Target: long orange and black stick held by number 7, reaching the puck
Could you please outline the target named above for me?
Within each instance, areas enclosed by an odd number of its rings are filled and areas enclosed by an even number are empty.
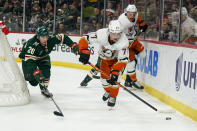
[[[99,71],[100,73],[102,73],[104,76],[106,76],[108,79],[110,79],[110,76],[107,75],[105,72],[103,72],[101,69],[97,68],[95,65],[93,65],[92,63],[88,62],[88,64],[90,66],[92,66],[94,69],[96,69],[97,71]],[[158,110],[156,107],[152,106],[151,104],[149,104],[148,102],[146,102],[145,100],[143,100],[142,98],[140,98],[138,95],[136,95],[135,93],[133,93],[132,91],[128,90],[126,87],[124,87],[122,84],[120,84],[119,82],[115,82],[118,86],[120,86],[121,88],[123,88],[124,90],[126,90],[128,93],[130,93],[131,95],[133,95],[135,98],[137,98],[138,100],[140,100],[141,102],[143,102],[144,104],[146,104],[147,106],[149,106],[151,109],[153,109],[156,112],[159,113],[174,113],[174,110]]]

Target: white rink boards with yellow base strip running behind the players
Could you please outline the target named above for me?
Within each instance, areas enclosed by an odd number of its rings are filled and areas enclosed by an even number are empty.
[[[18,57],[22,45],[34,34],[10,33],[8,41],[11,50]],[[81,36],[70,36],[78,42]],[[167,42],[143,41],[146,49],[144,58],[137,58],[137,77],[145,86],[145,91],[172,106],[186,116],[197,121],[197,48]],[[91,45],[90,62],[97,61],[97,45]],[[70,53],[65,45],[54,47],[50,54],[52,64],[89,70],[89,66],[81,65],[78,56]],[[19,59],[17,58],[17,61]]]

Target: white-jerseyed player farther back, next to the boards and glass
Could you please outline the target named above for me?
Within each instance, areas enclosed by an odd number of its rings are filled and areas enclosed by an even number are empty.
[[[138,57],[144,57],[145,51],[144,46],[137,39],[134,40],[136,31],[135,25],[139,24],[139,28],[142,32],[145,32],[147,29],[147,24],[138,16],[137,8],[135,5],[128,5],[126,12],[121,14],[118,18],[121,23],[121,29],[126,34],[129,40],[129,63],[127,64],[126,80],[125,86],[127,87],[136,87],[138,89],[143,89],[144,87],[137,82],[135,66],[136,60],[135,55]]]

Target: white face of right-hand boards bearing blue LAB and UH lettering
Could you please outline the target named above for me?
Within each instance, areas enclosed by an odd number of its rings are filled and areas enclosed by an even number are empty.
[[[143,42],[137,77],[167,96],[197,109],[197,49]]]

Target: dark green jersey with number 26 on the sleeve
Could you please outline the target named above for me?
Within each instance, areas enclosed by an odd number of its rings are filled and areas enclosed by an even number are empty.
[[[33,38],[24,43],[22,51],[19,54],[19,58],[24,61],[40,60],[48,56],[56,44],[66,44],[67,46],[72,47],[74,42],[67,35],[53,34],[49,35],[47,44],[43,46],[37,39],[37,35],[35,35]],[[74,48],[72,51],[75,53],[77,50],[78,48]]]

